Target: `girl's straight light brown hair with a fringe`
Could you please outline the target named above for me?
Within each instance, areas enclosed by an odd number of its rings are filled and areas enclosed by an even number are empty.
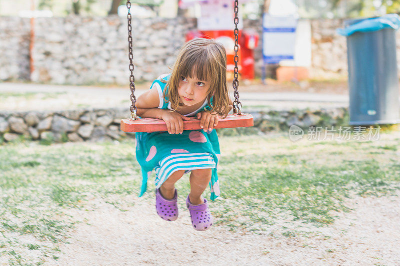
[[[229,92],[226,85],[226,52],[222,44],[212,39],[194,38],[179,50],[171,76],[166,82],[164,100],[170,101],[176,110],[179,104],[180,77],[196,77],[209,82],[207,112],[226,117],[229,112]]]

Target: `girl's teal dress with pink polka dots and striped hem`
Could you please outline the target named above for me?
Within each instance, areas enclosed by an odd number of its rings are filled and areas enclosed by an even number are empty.
[[[151,89],[156,89],[159,95],[161,109],[171,109],[170,102],[164,102],[162,97],[166,81],[170,75],[161,75],[153,81]],[[185,116],[195,116],[208,106],[205,101],[196,111]],[[172,110],[172,109],[171,109]],[[219,194],[219,182],[216,167],[220,156],[218,136],[215,129],[184,130],[182,134],[168,132],[136,132],[136,160],[141,167],[142,181],[139,197],[147,189],[147,180],[152,171],[155,171],[154,184],[159,188],[161,184],[175,171],[185,170],[185,173],[194,169],[210,168],[211,190],[210,200],[215,200]]]

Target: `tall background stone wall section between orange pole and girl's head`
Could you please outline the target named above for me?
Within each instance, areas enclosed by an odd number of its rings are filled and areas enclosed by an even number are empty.
[[[153,80],[168,72],[195,20],[132,19],[134,75]],[[127,22],[118,16],[68,16],[36,20],[33,81],[57,84],[126,84]]]

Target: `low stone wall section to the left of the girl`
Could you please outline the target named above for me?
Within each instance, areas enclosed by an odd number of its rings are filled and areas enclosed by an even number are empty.
[[[5,141],[19,136],[54,142],[118,139],[126,108],[78,109],[59,112],[0,112],[0,136]]]

